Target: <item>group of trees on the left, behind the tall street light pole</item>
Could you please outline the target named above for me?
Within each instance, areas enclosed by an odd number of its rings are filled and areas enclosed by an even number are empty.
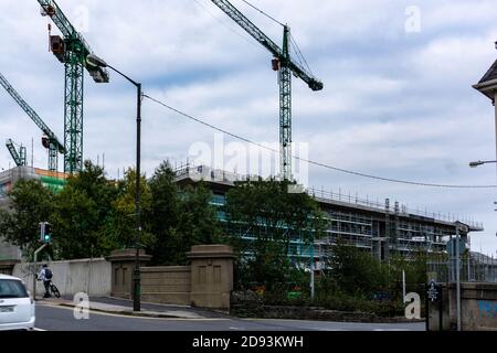
[[[84,167],[57,194],[39,181],[19,181],[9,192],[11,210],[0,210],[0,234],[20,246],[27,259],[40,247],[42,221],[52,224],[52,246],[44,255],[53,259],[106,256],[136,246],[135,171],[116,182],[91,161]],[[210,199],[203,185],[180,190],[168,162],[150,181],[141,176],[139,245],[154,255],[155,265],[183,265],[192,245],[218,239]]]

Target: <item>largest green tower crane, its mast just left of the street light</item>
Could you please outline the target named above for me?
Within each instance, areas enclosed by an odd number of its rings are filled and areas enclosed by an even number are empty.
[[[64,36],[50,35],[50,47],[65,67],[64,147],[67,152],[64,172],[72,174],[83,169],[83,68],[86,67],[96,83],[108,83],[108,72],[86,66],[86,56],[93,51],[55,1],[38,2],[42,7],[42,15],[50,17]]]

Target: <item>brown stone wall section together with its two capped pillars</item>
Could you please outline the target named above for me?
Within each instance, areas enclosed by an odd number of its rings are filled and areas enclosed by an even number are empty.
[[[131,253],[119,250],[109,257],[114,297],[131,298]],[[226,245],[199,245],[188,257],[191,266],[141,267],[141,300],[228,312],[233,290],[233,249]],[[141,258],[147,259],[144,254]]]

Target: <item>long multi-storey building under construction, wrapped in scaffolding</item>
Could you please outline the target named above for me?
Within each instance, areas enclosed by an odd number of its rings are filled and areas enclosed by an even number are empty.
[[[224,213],[225,193],[235,182],[258,180],[258,176],[239,175],[208,167],[181,167],[177,170],[177,182],[180,185],[203,181],[213,192],[212,204],[219,207],[218,218],[228,225]],[[467,220],[457,220],[443,214],[409,210],[398,202],[385,200],[362,200],[350,194],[345,195],[324,190],[308,189],[327,216],[326,236],[316,239],[313,245],[295,238],[290,253],[297,254],[302,264],[310,264],[320,269],[328,256],[330,247],[340,238],[346,244],[370,252],[379,259],[388,259],[392,254],[409,255],[411,252],[442,254],[447,250],[448,242],[456,235],[456,221],[467,225],[467,231],[459,231],[461,239],[466,248],[470,246],[469,233],[482,232],[483,225]],[[230,232],[250,238],[251,229],[239,226]],[[308,260],[306,260],[308,259]]]

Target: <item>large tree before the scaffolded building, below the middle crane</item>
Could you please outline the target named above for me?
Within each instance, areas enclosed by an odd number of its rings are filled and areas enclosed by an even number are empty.
[[[289,255],[299,256],[290,242],[310,244],[321,235],[324,217],[317,202],[306,193],[289,193],[289,185],[287,181],[248,181],[226,193],[233,245],[243,254],[237,263],[240,285],[257,282],[268,289],[286,285]]]

